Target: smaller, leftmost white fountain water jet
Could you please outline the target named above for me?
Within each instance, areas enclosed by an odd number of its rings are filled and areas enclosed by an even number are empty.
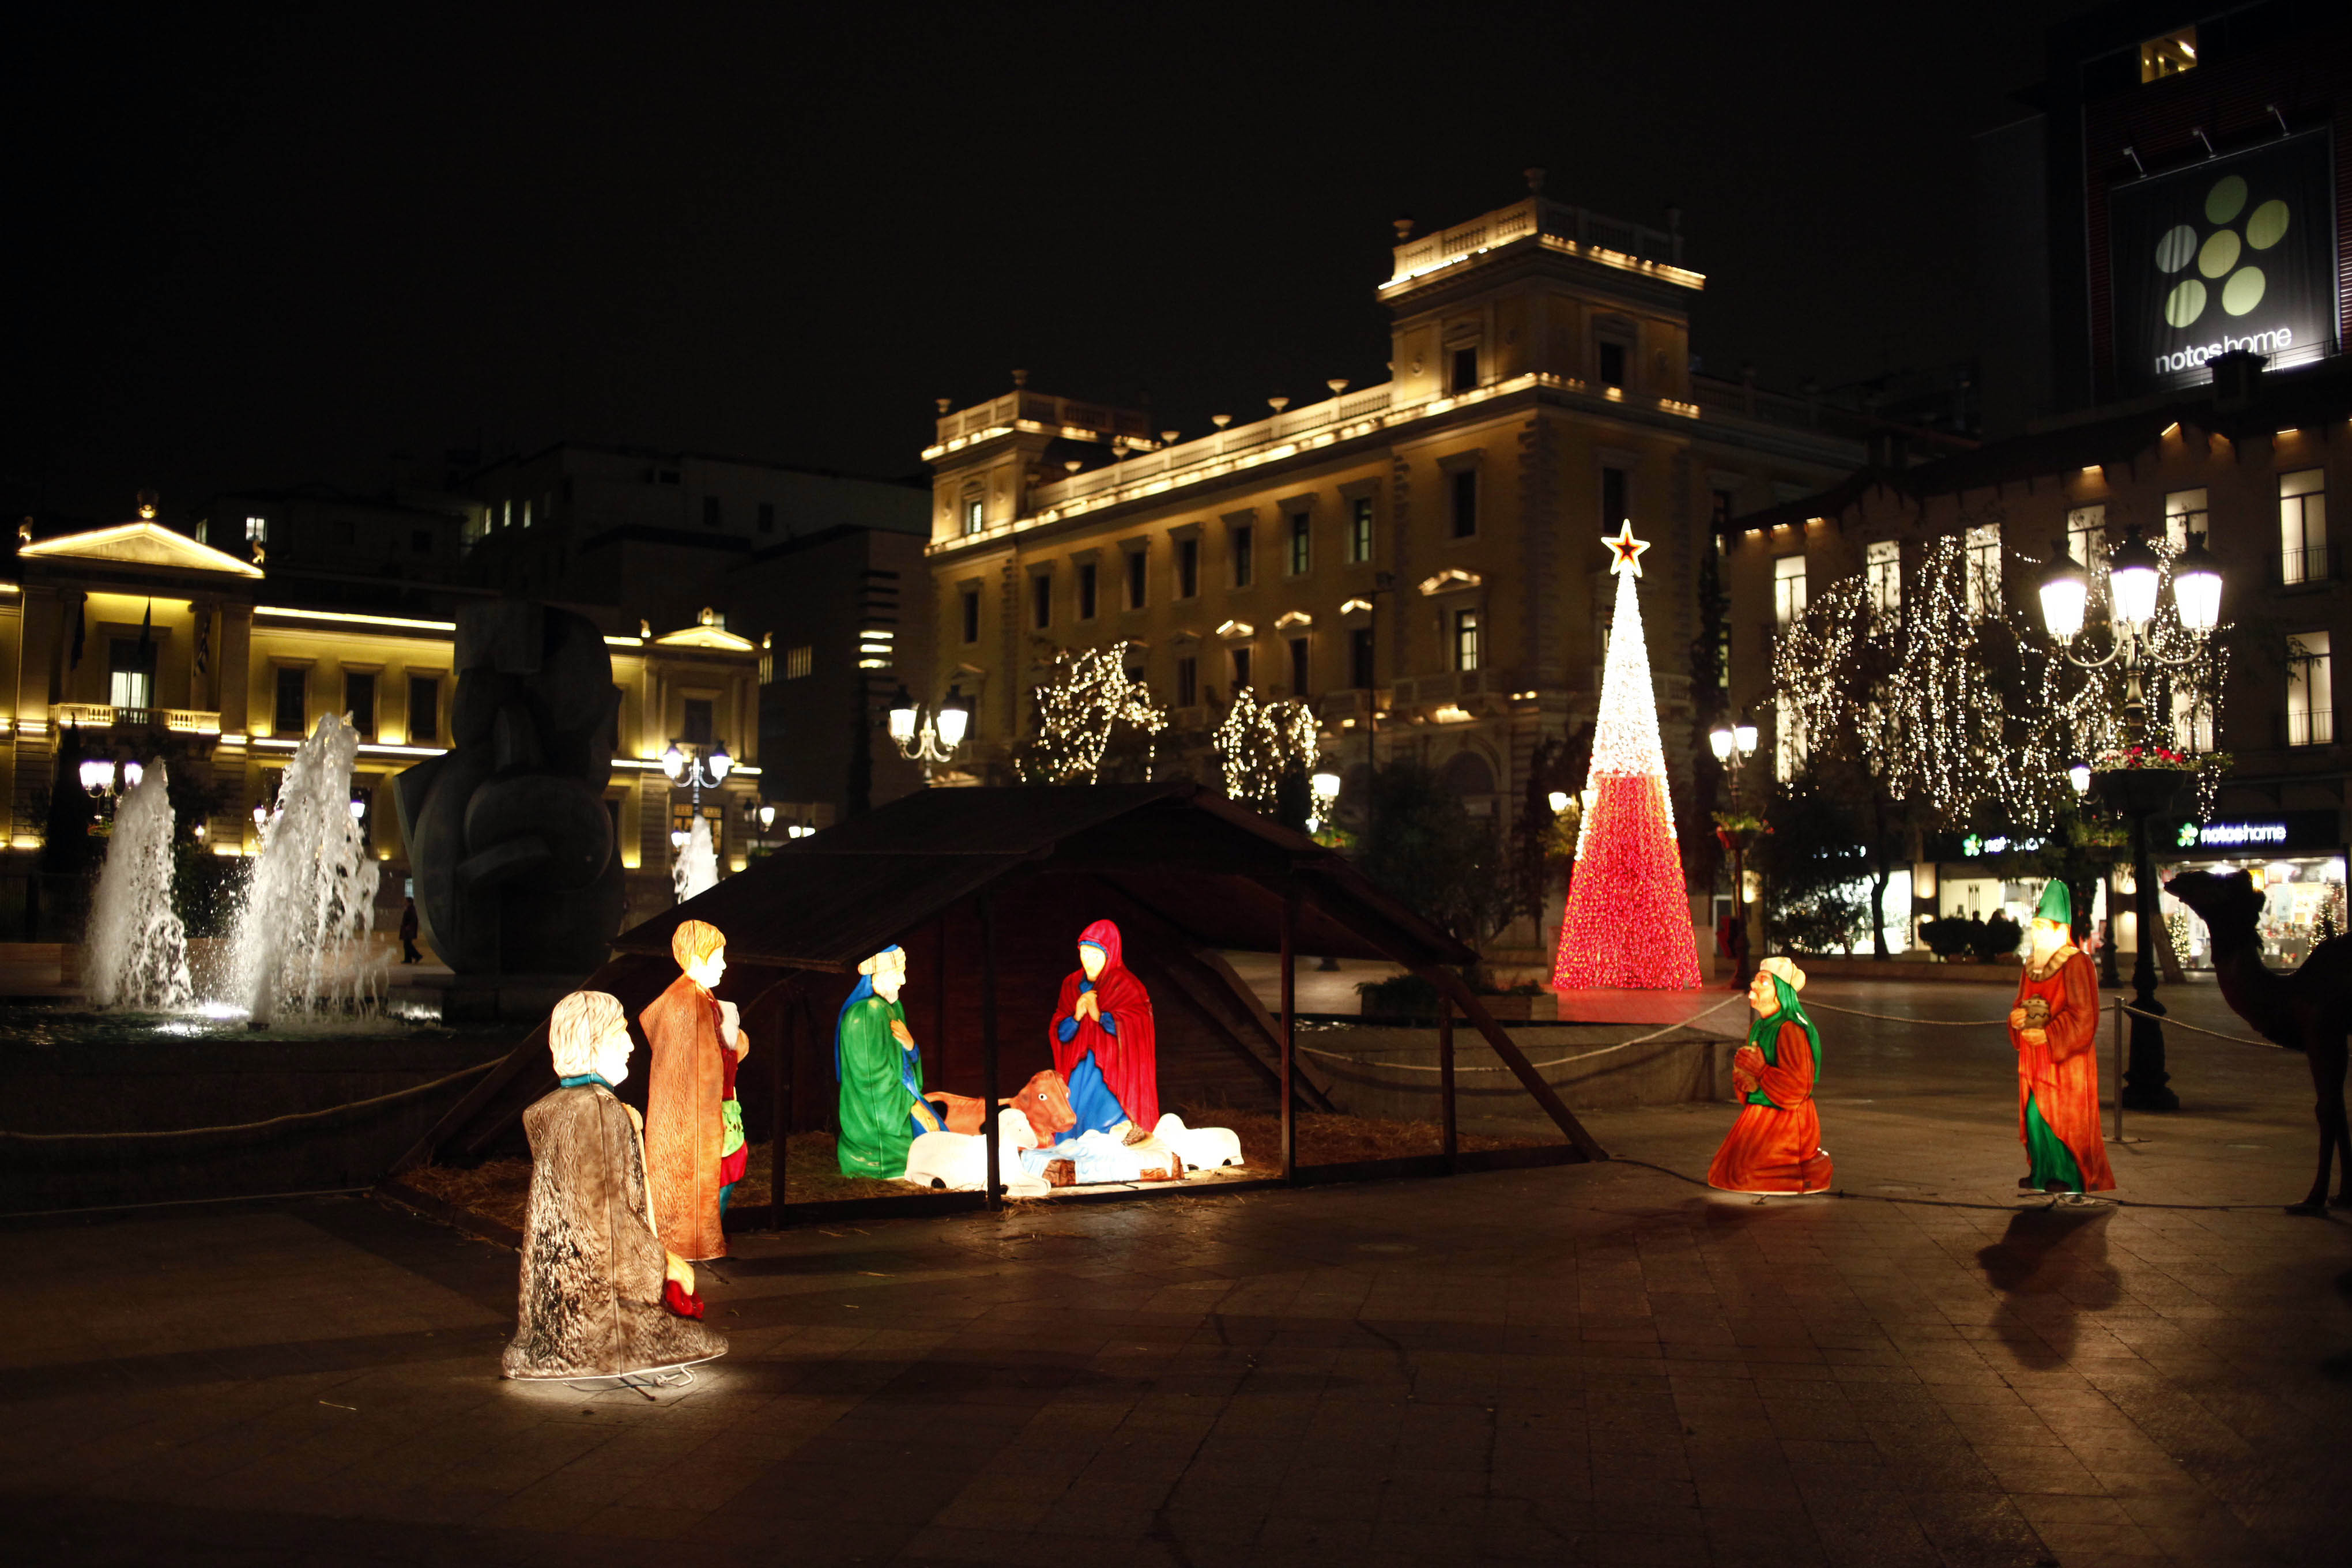
[[[176,1013],[195,1004],[188,931],[172,910],[172,797],[162,762],[115,809],[89,910],[82,985],[101,1009]]]

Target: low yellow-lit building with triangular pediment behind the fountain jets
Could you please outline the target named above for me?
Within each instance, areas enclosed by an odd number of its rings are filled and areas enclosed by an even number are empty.
[[[106,529],[21,538],[0,564],[0,788],[9,837],[0,849],[0,926],[21,929],[59,776],[66,729],[85,755],[148,762],[169,750],[209,771],[216,809],[205,839],[219,856],[256,849],[254,806],[320,715],[360,731],[353,792],[376,856],[381,898],[400,907],[407,849],[390,778],[449,745],[456,698],[454,595],[405,590],[360,609],[303,581],[273,581],[261,559],[198,543],[151,515]],[[397,614],[383,614],[397,611]],[[661,755],[727,748],[734,771],[701,795],[722,865],[741,870],[769,830],[757,823],[760,649],[715,614],[682,628],[604,637],[621,691],[612,783],[630,917],[670,903],[670,832],[696,809]],[[783,825],[774,827],[781,837]],[[381,922],[379,922],[381,924]]]

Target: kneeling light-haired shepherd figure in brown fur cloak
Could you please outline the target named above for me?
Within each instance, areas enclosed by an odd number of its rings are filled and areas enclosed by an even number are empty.
[[[548,1018],[562,1084],[522,1112],[532,1206],[508,1378],[621,1378],[727,1354],[696,1321],[694,1265],[654,1227],[644,1126],[612,1093],[630,1048],[619,997],[572,992]]]

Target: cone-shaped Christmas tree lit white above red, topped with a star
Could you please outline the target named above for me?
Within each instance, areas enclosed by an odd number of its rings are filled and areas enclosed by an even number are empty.
[[[1665,748],[1658,745],[1658,698],[1649,684],[1649,642],[1642,637],[1642,576],[1646,543],[1623,524],[1609,571],[1618,581],[1609,623],[1609,665],[1602,670],[1602,710],[1592,726],[1592,773],[1576,837],[1576,877],[1569,917],[1559,924],[1552,985],[1623,985],[1693,990],[1698,940],[1691,900],[1682,891],[1675,849],[1675,809],[1665,795]]]

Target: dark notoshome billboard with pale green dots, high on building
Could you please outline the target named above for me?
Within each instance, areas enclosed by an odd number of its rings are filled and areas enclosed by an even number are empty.
[[[2206,381],[2232,348],[2333,355],[2333,186],[2326,132],[2110,186],[2119,390]]]

